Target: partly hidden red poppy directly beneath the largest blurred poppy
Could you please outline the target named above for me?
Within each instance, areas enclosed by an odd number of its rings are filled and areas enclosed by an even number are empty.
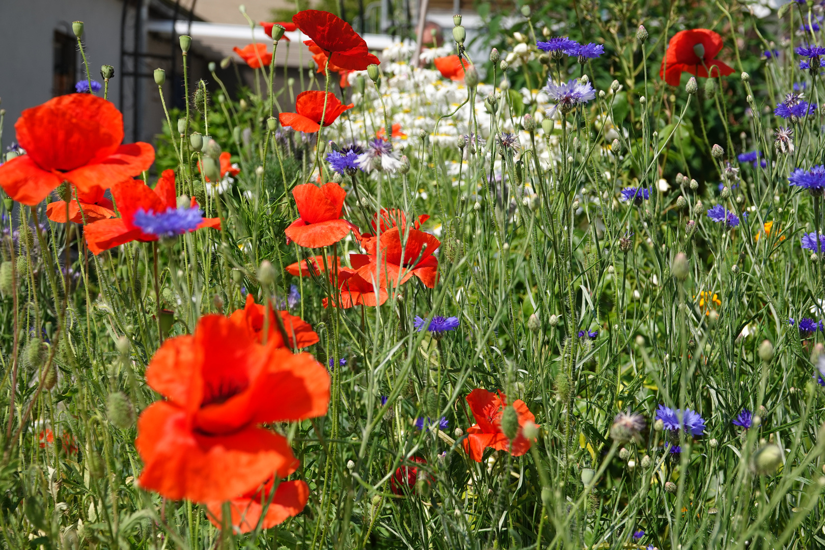
[[[229,509],[232,514],[232,526],[240,533],[249,533],[257,528],[261,522],[261,529],[269,529],[281,524],[285,519],[294,515],[299,515],[309,500],[309,486],[301,481],[280,482],[276,487],[275,495],[272,495],[272,486],[275,480],[271,479],[259,489],[248,491],[243,496],[238,496],[229,501]],[[270,498],[271,496],[271,498]],[[264,506],[266,515],[263,513]],[[208,502],[206,508],[209,510],[209,520],[218,529],[224,527],[224,503],[220,501]]]

